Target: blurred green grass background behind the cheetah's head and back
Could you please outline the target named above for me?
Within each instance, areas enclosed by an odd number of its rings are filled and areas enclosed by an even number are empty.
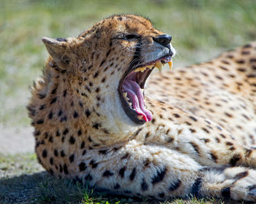
[[[149,17],[171,34],[175,67],[256,40],[254,0],[0,0],[0,125],[29,126],[29,85],[47,58],[42,36],[78,36],[119,13]]]

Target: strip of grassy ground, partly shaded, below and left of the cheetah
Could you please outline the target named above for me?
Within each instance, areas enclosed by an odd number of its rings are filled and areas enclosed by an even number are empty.
[[[35,154],[0,154],[0,203],[159,203],[211,204],[234,203],[215,199],[155,200],[106,195],[89,189],[86,184],[50,176],[38,164]]]

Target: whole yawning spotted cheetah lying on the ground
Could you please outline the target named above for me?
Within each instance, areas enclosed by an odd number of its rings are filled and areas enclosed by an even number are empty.
[[[256,42],[152,73],[172,66],[171,39],[138,15],[42,38],[27,106],[39,162],[116,195],[256,201]]]

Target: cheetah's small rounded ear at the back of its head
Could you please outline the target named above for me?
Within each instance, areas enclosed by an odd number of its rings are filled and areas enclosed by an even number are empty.
[[[67,40],[63,38],[51,39],[43,37],[42,42],[45,44],[50,56],[59,65],[59,67],[64,69],[67,68],[69,65]]]

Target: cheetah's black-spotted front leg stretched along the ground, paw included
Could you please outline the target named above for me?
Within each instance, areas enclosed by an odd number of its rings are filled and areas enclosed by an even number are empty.
[[[255,170],[206,170],[186,154],[162,146],[133,140],[121,147],[88,150],[80,159],[75,166],[69,165],[69,173],[117,194],[157,199],[196,195],[256,200]]]

